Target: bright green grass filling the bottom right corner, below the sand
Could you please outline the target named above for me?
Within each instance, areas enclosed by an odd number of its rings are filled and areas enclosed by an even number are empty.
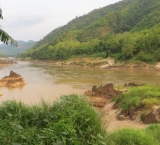
[[[108,145],[159,145],[160,125],[143,130],[122,129],[108,136]]]

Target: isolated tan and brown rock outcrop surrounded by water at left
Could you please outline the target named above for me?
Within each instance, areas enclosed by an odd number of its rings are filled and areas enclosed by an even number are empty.
[[[12,87],[17,88],[19,86],[25,85],[26,82],[23,80],[21,75],[10,71],[9,76],[5,76],[0,80],[0,87]]]

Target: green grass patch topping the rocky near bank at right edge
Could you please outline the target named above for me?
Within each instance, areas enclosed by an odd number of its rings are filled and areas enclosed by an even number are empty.
[[[128,92],[113,98],[115,103],[119,103],[122,110],[152,108],[153,105],[160,104],[160,86],[145,85],[130,88]]]

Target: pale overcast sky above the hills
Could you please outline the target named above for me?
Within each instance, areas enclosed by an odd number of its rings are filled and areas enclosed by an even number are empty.
[[[76,16],[120,0],[0,0],[0,26],[15,40],[38,41]]]

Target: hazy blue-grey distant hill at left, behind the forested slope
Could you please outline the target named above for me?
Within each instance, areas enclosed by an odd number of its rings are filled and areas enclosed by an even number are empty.
[[[25,41],[18,41],[18,46],[13,47],[11,45],[1,44],[0,45],[0,54],[7,55],[7,56],[16,56],[18,53],[23,53],[33,47],[36,41],[29,40],[28,42]]]

